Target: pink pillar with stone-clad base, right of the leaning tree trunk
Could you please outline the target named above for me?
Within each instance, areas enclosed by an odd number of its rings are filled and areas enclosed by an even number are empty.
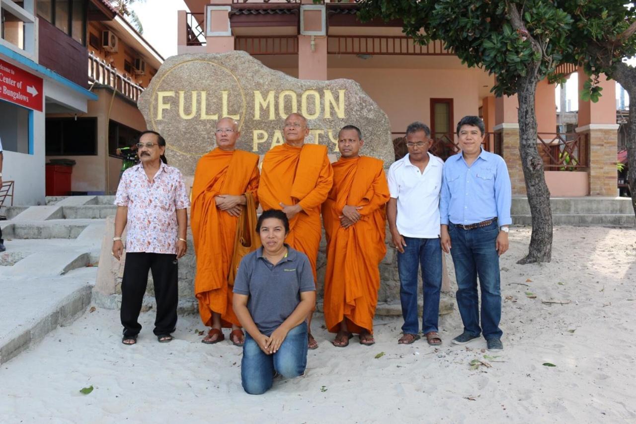
[[[579,92],[588,79],[579,68]],[[598,102],[579,99],[579,122],[576,132],[586,134],[590,162],[590,195],[615,197],[617,193],[616,149],[616,82],[601,76],[602,96]]]

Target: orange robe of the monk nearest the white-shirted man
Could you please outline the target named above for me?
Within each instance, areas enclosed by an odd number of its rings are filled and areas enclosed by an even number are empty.
[[[340,158],[333,166],[333,188],[322,204],[322,221],[327,236],[327,271],[324,277],[324,319],[327,329],[373,333],[373,316],[378,303],[380,269],[387,253],[384,244],[389,186],[382,160],[371,157]],[[362,218],[340,226],[342,209],[363,206]]]

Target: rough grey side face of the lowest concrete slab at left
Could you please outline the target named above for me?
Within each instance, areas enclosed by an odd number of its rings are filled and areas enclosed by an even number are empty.
[[[50,308],[28,329],[18,329],[0,346],[0,365],[41,341],[46,334],[76,320],[90,304],[92,285],[78,288]]]

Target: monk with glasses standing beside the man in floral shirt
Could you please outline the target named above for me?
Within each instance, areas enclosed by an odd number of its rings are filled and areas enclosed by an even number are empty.
[[[239,217],[251,213],[256,219],[259,158],[236,149],[239,124],[232,118],[221,118],[215,135],[217,146],[199,159],[192,187],[195,295],[201,320],[211,327],[202,342],[223,341],[221,328],[232,327],[230,340],[243,346],[245,335],[232,309],[232,287],[228,286],[233,285],[235,274],[231,267]]]

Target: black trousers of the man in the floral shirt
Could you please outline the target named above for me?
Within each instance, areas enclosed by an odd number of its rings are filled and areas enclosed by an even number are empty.
[[[126,253],[121,281],[121,325],[124,336],[135,336],[141,331],[137,322],[141,304],[148,286],[148,271],[153,273],[157,311],[156,336],[174,332],[177,325],[177,256],[168,253]]]

